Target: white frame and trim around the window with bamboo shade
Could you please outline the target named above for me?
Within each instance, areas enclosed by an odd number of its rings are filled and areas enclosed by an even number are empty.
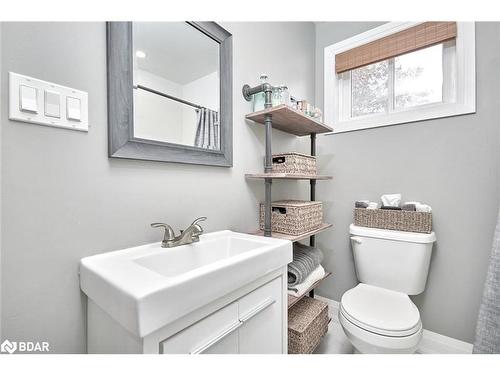
[[[350,81],[339,79],[335,73],[335,55],[365,43],[414,27],[422,22],[389,22],[324,49],[324,116],[334,133],[397,125],[434,118],[458,116],[476,112],[476,53],[474,22],[457,22],[454,48],[443,48],[443,64],[454,66],[454,79],[443,80],[443,102],[420,105],[397,112],[371,114],[349,118]],[[445,43],[446,44],[446,43]],[[454,60],[454,63],[453,63]],[[445,69],[448,73],[450,69]],[[345,74],[345,73],[341,73]],[[346,84],[348,82],[348,84]],[[347,86],[347,87],[346,87]],[[340,92],[344,92],[340,95]],[[344,98],[344,102],[342,101]]]

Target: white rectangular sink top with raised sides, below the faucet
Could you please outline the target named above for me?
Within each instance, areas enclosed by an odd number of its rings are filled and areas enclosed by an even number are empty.
[[[170,249],[153,243],[83,258],[80,287],[144,337],[291,261],[290,241],[226,230]]]

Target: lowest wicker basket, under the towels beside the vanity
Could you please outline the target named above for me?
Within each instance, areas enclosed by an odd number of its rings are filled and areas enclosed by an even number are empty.
[[[311,354],[328,332],[328,304],[310,297],[288,310],[288,353]]]

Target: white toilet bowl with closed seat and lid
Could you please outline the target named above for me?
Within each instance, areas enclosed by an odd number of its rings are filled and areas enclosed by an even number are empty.
[[[360,353],[414,353],[422,338],[420,314],[406,294],[362,283],[342,296],[339,321]]]

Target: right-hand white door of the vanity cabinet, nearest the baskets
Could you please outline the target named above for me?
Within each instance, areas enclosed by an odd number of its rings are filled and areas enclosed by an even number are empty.
[[[242,354],[283,353],[283,301],[281,277],[239,301],[239,346]]]

